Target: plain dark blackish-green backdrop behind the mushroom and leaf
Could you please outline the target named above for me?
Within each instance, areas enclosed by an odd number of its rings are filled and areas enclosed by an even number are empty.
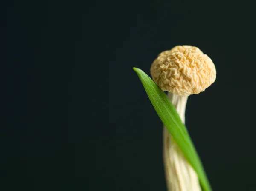
[[[132,68],[184,44],[217,69],[186,109],[212,188],[256,190],[253,4],[8,2],[1,190],[165,191],[162,123]]]

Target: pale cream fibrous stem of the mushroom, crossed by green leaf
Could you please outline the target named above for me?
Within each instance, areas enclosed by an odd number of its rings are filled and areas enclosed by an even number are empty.
[[[181,121],[185,123],[188,96],[182,97],[169,92],[168,98],[175,106]],[[163,127],[163,163],[168,191],[201,191],[195,170],[165,126]]]

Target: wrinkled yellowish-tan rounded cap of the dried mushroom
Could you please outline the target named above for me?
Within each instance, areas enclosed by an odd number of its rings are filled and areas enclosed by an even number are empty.
[[[215,81],[216,69],[212,60],[198,50],[195,47],[166,56],[161,53],[150,68],[154,82],[162,90],[180,96],[204,91]]]

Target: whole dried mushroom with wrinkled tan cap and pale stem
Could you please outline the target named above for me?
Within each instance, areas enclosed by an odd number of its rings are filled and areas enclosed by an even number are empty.
[[[151,65],[151,76],[175,106],[185,123],[187,98],[199,94],[216,79],[212,60],[194,46],[175,46],[163,51]],[[179,146],[163,128],[163,162],[168,191],[201,191],[198,176]]]

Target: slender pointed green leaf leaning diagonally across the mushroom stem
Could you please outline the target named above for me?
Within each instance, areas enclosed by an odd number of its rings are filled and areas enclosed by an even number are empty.
[[[204,191],[212,191],[207,175],[204,171],[200,158],[195,150],[192,140],[188,134],[186,127],[180,120],[174,105],[168,99],[166,94],[148,77],[145,72],[139,68],[133,68],[138,74],[148,97],[157,111],[158,116],[166,126],[172,137],[175,139],[180,149],[183,151],[186,159],[198,174],[198,179]]]

